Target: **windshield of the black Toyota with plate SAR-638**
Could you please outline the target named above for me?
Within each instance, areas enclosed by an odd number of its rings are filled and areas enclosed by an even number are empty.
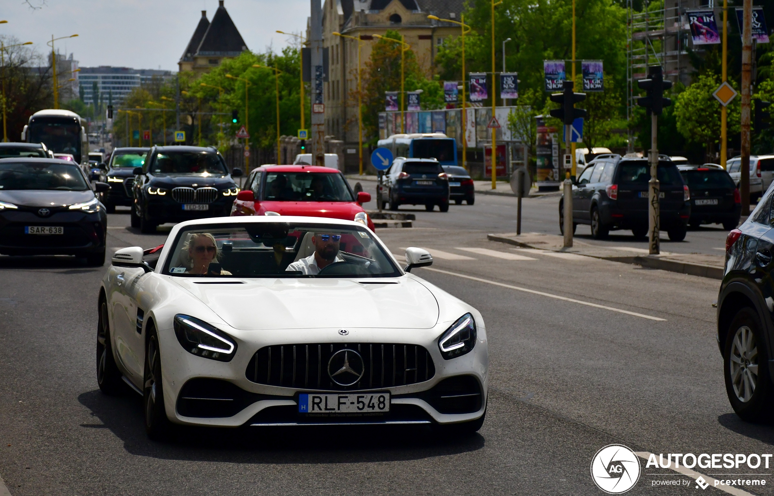
[[[0,191],[9,189],[89,189],[77,165],[66,162],[0,162]]]

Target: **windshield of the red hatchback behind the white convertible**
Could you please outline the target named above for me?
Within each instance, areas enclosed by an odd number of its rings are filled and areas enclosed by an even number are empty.
[[[275,202],[354,202],[341,174],[268,172],[263,198]]]

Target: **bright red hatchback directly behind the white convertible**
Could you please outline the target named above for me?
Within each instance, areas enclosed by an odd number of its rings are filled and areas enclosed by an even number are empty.
[[[310,216],[354,220],[374,229],[362,204],[371,195],[352,192],[341,172],[311,165],[265,165],[248,175],[232,216]]]

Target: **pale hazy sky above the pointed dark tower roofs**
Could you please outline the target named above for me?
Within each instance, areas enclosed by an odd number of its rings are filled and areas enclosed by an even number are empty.
[[[39,53],[46,41],[56,42],[60,53],[73,53],[79,65],[124,66],[134,69],[177,70],[177,61],[194,34],[201,11],[207,19],[217,0],[2,0],[0,36],[34,42]],[[309,0],[225,0],[225,8],[248,49],[283,49],[290,36],[306,29]]]

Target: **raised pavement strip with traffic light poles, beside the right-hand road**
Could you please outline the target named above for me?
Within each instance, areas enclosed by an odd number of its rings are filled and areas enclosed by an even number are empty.
[[[563,237],[554,234],[515,233],[488,234],[487,239],[500,243],[509,243],[522,248],[550,250],[560,253],[601,258],[614,262],[634,263],[651,269],[669,270],[694,276],[722,279],[724,273],[724,255],[703,253],[670,253],[662,251],[659,255],[649,255],[648,250],[628,246],[595,246],[574,239],[572,248],[563,248]]]

